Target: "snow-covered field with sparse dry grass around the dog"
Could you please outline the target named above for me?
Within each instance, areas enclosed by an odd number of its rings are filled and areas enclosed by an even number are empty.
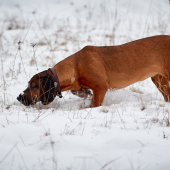
[[[69,91],[47,107],[16,100],[34,74],[85,45],[170,34],[169,9],[168,0],[1,0],[0,170],[169,170],[170,105],[150,79],[108,91],[97,108]]]

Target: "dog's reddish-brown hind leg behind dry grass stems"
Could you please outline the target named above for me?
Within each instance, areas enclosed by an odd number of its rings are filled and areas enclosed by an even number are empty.
[[[160,74],[151,77],[153,83],[156,85],[158,90],[162,93],[166,102],[170,102],[170,86],[169,80]]]

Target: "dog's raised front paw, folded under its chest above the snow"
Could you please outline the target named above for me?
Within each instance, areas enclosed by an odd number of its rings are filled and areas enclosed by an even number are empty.
[[[81,88],[80,90],[71,90],[71,93],[81,98],[87,98],[92,96],[91,91],[87,88]]]

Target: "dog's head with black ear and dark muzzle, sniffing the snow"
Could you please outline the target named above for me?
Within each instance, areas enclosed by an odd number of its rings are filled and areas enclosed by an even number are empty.
[[[39,101],[47,105],[54,100],[56,95],[62,97],[54,77],[49,70],[46,70],[31,78],[24,94],[20,94],[17,100],[25,106],[34,105]]]

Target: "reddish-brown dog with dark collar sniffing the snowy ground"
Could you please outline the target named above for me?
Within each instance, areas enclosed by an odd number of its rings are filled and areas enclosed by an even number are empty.
[[[24,105],[52,102],[61,91],[87,97],[92,89],[91,107],[100,106],[108,89],[120,89],[151,77],[170,101],[170,36],[161,35],[119,46],[86,46],[54,66],[36,74],[28,88],[17,98]]]

